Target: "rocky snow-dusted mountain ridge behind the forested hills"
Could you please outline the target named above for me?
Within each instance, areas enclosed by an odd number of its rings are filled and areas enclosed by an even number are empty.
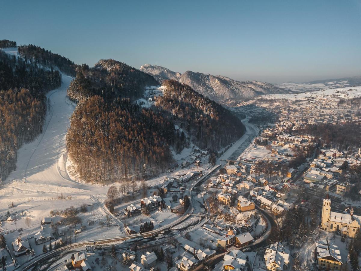
[[[260,81],[236,81],[226,76],[214,76],[200,72],[186,71],[183,74],[173,72],[167,68],[145,64],[140,70],[146,72],[162,82],[177,80],[191,86],[198,93],[218,102],[232,103],[250,99],[263,94],[283,94],[287,90],[279,90],[276,86]]]

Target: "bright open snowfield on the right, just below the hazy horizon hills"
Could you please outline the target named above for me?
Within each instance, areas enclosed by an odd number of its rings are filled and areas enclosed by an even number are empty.
[[[350,90],[351,89],[351,90]],[[289,99],[289,100],[300,100],[319,97],[320,95],[327,96],[329,98],[356,98],[361,97],[361,86],[353,86],[348,88],[337,88],[337,89],[324,89],[314,92],[303,92],[297,94],[270,94],[262,95],[256,99]]]

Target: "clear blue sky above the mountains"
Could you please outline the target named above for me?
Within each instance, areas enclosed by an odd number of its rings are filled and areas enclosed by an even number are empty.
[[[361,1],[0,1],[0,39],[236,80],[361,75]]]

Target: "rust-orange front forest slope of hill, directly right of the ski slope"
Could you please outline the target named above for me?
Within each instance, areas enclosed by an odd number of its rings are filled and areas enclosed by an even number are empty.
[[[86,181],[141,179],[173,166],[174,124],[129,99],[93,96],[78,104],[70,122],[69,156]]]

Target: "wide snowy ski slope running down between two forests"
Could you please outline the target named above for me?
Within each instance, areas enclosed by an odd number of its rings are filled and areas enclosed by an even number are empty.
[[[65,170],[65,136],[70,124],[69,117],[75,109],[66,96],[70,81],[71,77],[62,75],[61,87],[47,94],[50,108],[43,133],[18,150],[16,170],[0,190],[0,203],[6,198],[16,201],[16,198],[24,196],[74,194],[93,188],[72,181]]]

